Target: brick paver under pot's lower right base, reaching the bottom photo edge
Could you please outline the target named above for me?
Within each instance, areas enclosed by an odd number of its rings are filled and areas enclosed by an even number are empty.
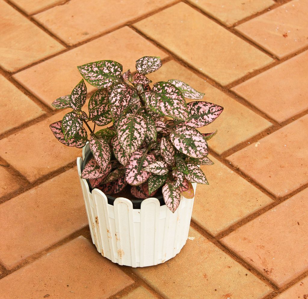
[[[170,299],[221,299],[228,294],[237,299],[257,299],[270,292],[264,282],[193,228],[189,236],[175,258],[155,267],[136,268],[135,272]]]

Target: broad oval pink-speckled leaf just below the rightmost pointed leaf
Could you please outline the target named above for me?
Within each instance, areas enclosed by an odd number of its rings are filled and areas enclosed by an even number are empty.
[[[206,140],[195,128],[180,124],[172,129],[170,140],[181,153],[193,158],[202,158],[209,153]]]

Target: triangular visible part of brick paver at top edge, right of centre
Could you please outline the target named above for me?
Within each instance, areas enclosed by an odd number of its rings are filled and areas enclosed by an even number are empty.
[[[230,27],[234,23],[275,4],[272,0],[188,0],[205,13]]]

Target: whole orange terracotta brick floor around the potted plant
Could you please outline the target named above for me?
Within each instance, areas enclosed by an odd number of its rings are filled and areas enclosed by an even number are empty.
[[[307,0],[0,0],[0,299],[308,298]],[[98,254],[75,159],[51,102],[77,65],[181,79],[225,107],[201,128],[203,167],[183,250],[132,269]],[[91,92],[93,89],[88,85]]]

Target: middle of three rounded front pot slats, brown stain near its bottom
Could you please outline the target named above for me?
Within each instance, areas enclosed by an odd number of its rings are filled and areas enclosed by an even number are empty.
[[[118,263],[136,267],[133,205],[130,200],[118,197],[114,201],[115,234],[118,247]]]

